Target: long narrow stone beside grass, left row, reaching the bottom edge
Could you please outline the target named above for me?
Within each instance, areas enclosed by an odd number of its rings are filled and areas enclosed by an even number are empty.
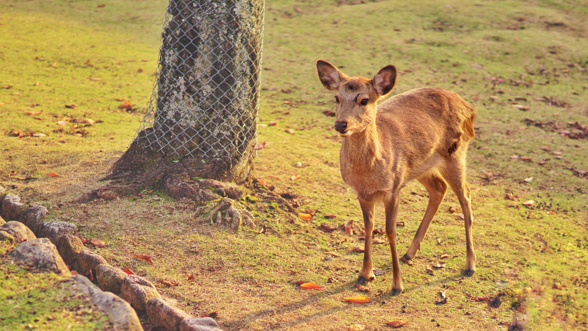
[[[89,279],[79,274],[69,277],[65,282],[71,283],[72,289],[89,297],[96,308],[108,315],[108,320],[115,330],[143,331],[141,321],[131,305],[110,292],[103,292]]]

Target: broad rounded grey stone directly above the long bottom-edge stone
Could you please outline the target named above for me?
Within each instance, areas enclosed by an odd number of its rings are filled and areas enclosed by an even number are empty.
[[[9,259],[25,264],[33,270],[45,269],[62,276],[71,276],[64,260],[59,256],[57,247],[46,238],[38,238],[18,244],[8,253]]]

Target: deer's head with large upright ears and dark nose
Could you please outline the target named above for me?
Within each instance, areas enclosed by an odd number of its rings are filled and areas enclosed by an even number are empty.
[[[363,131],[376,119],[376,103],[394,87],[396,67],[389,64],[369,80],[365,77],[349,77],[329,62],[316,61],[320,82],[335,92],[335,130],[346,137]]]

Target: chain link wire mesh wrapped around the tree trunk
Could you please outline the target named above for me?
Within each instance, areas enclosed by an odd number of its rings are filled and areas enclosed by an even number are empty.
[[[264,0],[170,0],[135,140],[177,158],[255,156],[263,11]]]

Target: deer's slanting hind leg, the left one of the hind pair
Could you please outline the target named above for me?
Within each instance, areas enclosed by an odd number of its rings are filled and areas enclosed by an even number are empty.
[[[403,259],[406,260],[414,259],[417,251],[420,250],[420,244],[423,242],[423,239],[425,239],[425,234],[427,234],[429,225],[431,224],[433,217],[435,217],[437,210],[439,210],[439,205],[441,204],[441,201],[443,201],[443,197],[445,197],[445,192],[447,191],[445,180],[443,180],[437,172],[419,177],[417,180],[423,184],[429,192],[429,204],[427,205],[423,220],[420,221],[419,229],[416,230],[415,238],[412,240],[412,243],[410,243],[405,256],[403,256]]]

